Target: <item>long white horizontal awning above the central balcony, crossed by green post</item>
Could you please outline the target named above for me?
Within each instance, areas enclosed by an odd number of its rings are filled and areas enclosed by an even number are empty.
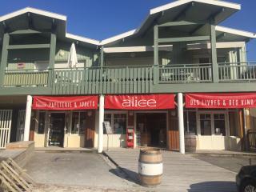
[[[172,51],[172,45],[158,46],[158,50]],[[105,53],[133,53],[133,52],[146,52],[154,51],[154,46],[120,46],[120,47],[106,47]]]

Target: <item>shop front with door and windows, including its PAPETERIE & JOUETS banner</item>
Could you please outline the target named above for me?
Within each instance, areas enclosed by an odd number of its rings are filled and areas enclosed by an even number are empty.
[[[93,147],[97,96],[34,97],[36,147]]]

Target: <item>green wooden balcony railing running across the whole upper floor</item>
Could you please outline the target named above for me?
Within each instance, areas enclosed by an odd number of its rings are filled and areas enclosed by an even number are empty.
[[[256,82],[256,63],[218,63],[218,82]],[[104,66],[54,70],[6,70],[6,88],[50,88],[50,94],[146,94],[161,84],[213,83],[212,65]],[[162,86],[161,86],[162,87]],[[177,86],[175,86],[177,87]],[[168,90],[168,89],[167,89]],[[166,91],[166,90],[162,90]],[[171,91],[171,90],[170,90]]]

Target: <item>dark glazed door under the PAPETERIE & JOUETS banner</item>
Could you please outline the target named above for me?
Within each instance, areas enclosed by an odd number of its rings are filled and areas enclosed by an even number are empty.
[[[63,146],[65,128],[65,114],[52,113],[50,114],[50,131],[48,146]]]

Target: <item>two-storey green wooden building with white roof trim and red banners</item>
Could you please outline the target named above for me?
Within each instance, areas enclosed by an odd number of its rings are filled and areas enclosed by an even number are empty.
[[[256,35],[219,26],[240,9],[216,0],[174,1],[150,10],[137,29],[101,41],[67,33],[66,16],[45,10],[3,15],[0,146],[34,140],[36,147],[99,152],[107,145],[245,150],[248,108],[256,104],[256,66],[246,59],[246,42]],[[78,62],[70,67],[72,43]],[[190,94],[206,103],[189,106]],[[67,109],[80,96],[83,108]],[[174,101],[162,100],[169,96]],[[135,104],[118,107],[122,97]],[[39,107],[36,98],[52,99],[52,106]],[[156,98],[166,103],[160,107]],[[97,99],[96,106],[86,99]],[[218,105],[225,101],[234,103]]]

